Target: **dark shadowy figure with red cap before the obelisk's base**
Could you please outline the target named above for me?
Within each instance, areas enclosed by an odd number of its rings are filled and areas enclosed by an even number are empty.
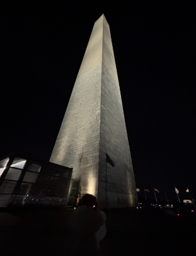
[[[100,255],[99,243],[107,233],[105,220],[96,197],[84,194],[72,218],[72,255]]]

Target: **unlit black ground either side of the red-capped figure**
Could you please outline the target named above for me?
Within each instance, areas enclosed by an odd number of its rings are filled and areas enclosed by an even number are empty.
[[[1,255],[69,255],[72,208],[0,212]],[[195,252],[194,212],[147,207],[110,209],[102,255],[190,255]],[[93,254],[92,254],[93,255]]]

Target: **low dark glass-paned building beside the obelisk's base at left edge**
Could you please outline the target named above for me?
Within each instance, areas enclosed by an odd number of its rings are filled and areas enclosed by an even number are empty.
[[[79,181],[72,168],[16,156],[0,160],[0,207],[74,206]]]

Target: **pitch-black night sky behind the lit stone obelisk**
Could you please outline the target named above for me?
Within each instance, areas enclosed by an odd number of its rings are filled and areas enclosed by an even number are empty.
[[[16,1],[17,2],[17,1]],[[12,3],[1,9],[0,156],[49,161],[95,21],[110,25],[136,185],[196,196],[191,1]],[[143,195],[143,191],[140,193]]]

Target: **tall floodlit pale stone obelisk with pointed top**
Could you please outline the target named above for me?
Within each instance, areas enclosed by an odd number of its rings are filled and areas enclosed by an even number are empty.
[[[81,181],[81,194],[95,195],[101,208],[137,205],[112,39],[104,15],[93,26],[50,161],[72,167],[72,178]]]

